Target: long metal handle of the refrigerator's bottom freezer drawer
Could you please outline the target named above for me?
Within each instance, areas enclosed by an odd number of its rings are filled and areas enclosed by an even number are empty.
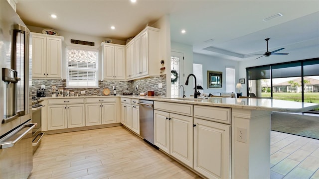
[[[28,129],[26,131],[24,131],[21,135],[19,135],[16,139],[14,139],[13,141],[8,141],[8,142],[3,142],[0,143],[0,149],[6,149],[6,148],[10,148],[13,147],[17,142],[19,142],[23,137],[25,137],[34,127],[36,124],[26,124],[23,125],[19,128],[17,128],[16,130],[12,131],[10,134],[8,134],[5,138],[10,138],[12,137],[14,134],[16,134],[17,132],[21,131],[22,129],[28,127]]]

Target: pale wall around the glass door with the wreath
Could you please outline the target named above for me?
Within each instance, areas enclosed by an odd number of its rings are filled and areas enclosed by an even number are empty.
[[[184,86],[185,88],[185,95],[189,97],[190,95],[194,95],[194,86],[188,85],[185,86],[186,78],[189,74],[193,73],[193,47],[191,45],[185,45],[177,42],[170,42],[171,51],[181,52],[184,54],[184,74],[185,77],[182,77],[182,75],[179,75],[181,78],[180,84]],[[167,64],[167,76],[169,76],[169,82],[167,83],[167,90],[169,90],[170,96],[170,57],[169,57],[169,63]],[[191,77],[189,79],[189,84],[194,84],[193,78]],[[169,86],[169,89],[168,89]]]

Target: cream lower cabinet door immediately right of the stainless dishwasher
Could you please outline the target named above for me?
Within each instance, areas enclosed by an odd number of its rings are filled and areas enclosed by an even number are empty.
[[[154,110],[155,145],[169,154],[169,113]]]

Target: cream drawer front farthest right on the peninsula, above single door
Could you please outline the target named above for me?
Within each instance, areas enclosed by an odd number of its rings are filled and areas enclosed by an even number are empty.
[[[231,108],[194,105],[194,117],[230,124]]]

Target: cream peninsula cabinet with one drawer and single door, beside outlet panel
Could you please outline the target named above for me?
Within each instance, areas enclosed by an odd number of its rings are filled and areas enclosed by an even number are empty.
[[[230,178],[230,122],[230,108],[194,105],[194,170],[209,179]]]

